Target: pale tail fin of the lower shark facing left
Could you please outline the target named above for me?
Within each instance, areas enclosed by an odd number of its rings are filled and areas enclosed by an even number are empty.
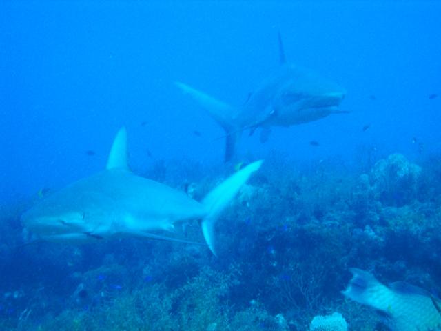
[[[214,224],[216,223],[220,212],[231,201],[236,193],[240,190],[240,187],[245,184],[253,172],[256,172],[263,161],[256,161],[247,165],[242,170],[239,170],[231,177],[228,177],[225,181],[216,186],[214,190],[209,192],[203,199],[203,204],[208,210],[207,216],[202,221],[202,232],[207,241],[209,249],[216,255],[215,243],[214,243]]]

